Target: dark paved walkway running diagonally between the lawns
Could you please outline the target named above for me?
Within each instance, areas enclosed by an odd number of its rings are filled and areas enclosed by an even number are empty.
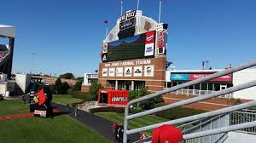
[[[115,142],[113,137],[113,131],[112,131],[113,122],[109,121],[108,119],[98,117],[93,113],[84,112],[80,110],[79,110],[78,116],[75,117],[74,108],[72,107],[67,108],[67,106],[62,106],[56,103],[52,103],[52,106],[54,106],[56,109],[60,110],[61,112],[66,112],[68,116],[79,120],[81,123],[84,123],[85,125],[90,127],[90,129],[95,130],[99,134],[102,134],[102,136]],[[139,136],[140,134],[129,135],[128,142],[134,142],[139,140]]]

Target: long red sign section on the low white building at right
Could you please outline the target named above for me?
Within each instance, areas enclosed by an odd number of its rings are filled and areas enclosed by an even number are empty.
[[[211,73],[195,73],[189,74],[189,80],[195,80],[200,77],[206,77],[211,75]],[[213,82],[232,82],[232,74],[228,74],[222,77],[214,78],[211,81]]]

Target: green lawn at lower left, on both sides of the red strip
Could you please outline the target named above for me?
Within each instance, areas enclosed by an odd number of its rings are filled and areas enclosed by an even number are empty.
[[[0,101],[0,115],[28,112],[20,100]],[[66,115],[54,119],[23,117],[0,121],[0,142],[4,143],[81,143],[110,142],[101,134]]]

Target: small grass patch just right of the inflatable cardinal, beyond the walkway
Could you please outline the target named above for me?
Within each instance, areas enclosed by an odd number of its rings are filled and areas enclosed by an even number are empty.
[[[83,100],[73,98],[71,94],[54,94],[52,102],[67,106],[71,106],[72,103],[81,102]]]

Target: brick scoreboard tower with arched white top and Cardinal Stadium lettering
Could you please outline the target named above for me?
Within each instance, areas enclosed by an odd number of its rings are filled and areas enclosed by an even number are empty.
[[[166,79],[167,24],[129,10],[103,40],[99,82],[106,89],[150,92],[164,88]]]

